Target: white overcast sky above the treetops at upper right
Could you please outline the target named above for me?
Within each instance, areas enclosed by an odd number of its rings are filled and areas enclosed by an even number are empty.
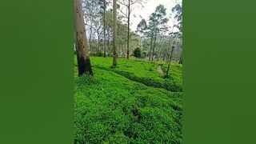
[[[182,2],[181,0],[176,0],[176,2]],[[166,16],[169,18],[171,14],[171,9],[176,5],[175,0],[148,0],[146,4],[144,4],[144,8],[137,8],[134,9],[131,18],[130,18],[130,29],[135,31],[137,29],[138,23],[145,18],[146,20],[149,19],[150,14],[154,13],[154,10],[158,5],[164,5],[166,7]],[[136,18],[134,17],[136,15]],[[142,18],[139,17],[142,16]],[[170,19],[168,22],[168,26],[173,26],[173,19]],[[174,32],[178,31],[177,28],[174,28]]]

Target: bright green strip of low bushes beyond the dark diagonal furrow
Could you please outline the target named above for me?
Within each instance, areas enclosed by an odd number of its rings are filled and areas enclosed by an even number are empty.
[[[167,69],[166,64],[154,64],[151,62],[137,61],[135,59],[118,58],[118,66],[111,67],[112,58],[90,57],[93,67],[109,70],[129,78],[135,82],[141,82],[146,86],[164,88],[173,92],[182,91],[182,66],[172,64],[170,77],[164,78],[164,75],[157,71],[158,66],[162,66],[163,71]]]

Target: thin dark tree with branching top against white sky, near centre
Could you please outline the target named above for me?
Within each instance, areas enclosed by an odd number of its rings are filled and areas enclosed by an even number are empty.
[[[130,14],[138,6],[142,6],[142,0],[118,0],[118,2],[125,6],[126,12],[121,10],[121,13],[127,18],[127,58],[129,59],[130,53]]]

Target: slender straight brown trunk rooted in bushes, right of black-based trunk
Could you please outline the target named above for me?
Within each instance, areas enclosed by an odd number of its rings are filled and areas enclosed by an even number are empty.
[[[117,0],[113,0],[113,12],[114,12],[114,19],[113,19],[113,66],[118,65],[118,55],[117,55]]]

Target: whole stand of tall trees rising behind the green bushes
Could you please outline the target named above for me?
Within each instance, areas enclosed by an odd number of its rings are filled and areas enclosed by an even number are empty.
[[[169,62],[178,59],[182,63],[182,5],[172,8],[167,16],[166,7],[159,5],[149,19],[142,18],[136,31],[130,30],[133,10],[143,7],[146,0],[74,0],[75,51],[78,58],[78,74],[93,75],[90,55],[148,58],[149,61]],[[173,26],[168,26],[172,18]],[[178,31],[174,32],[174,27]]]

